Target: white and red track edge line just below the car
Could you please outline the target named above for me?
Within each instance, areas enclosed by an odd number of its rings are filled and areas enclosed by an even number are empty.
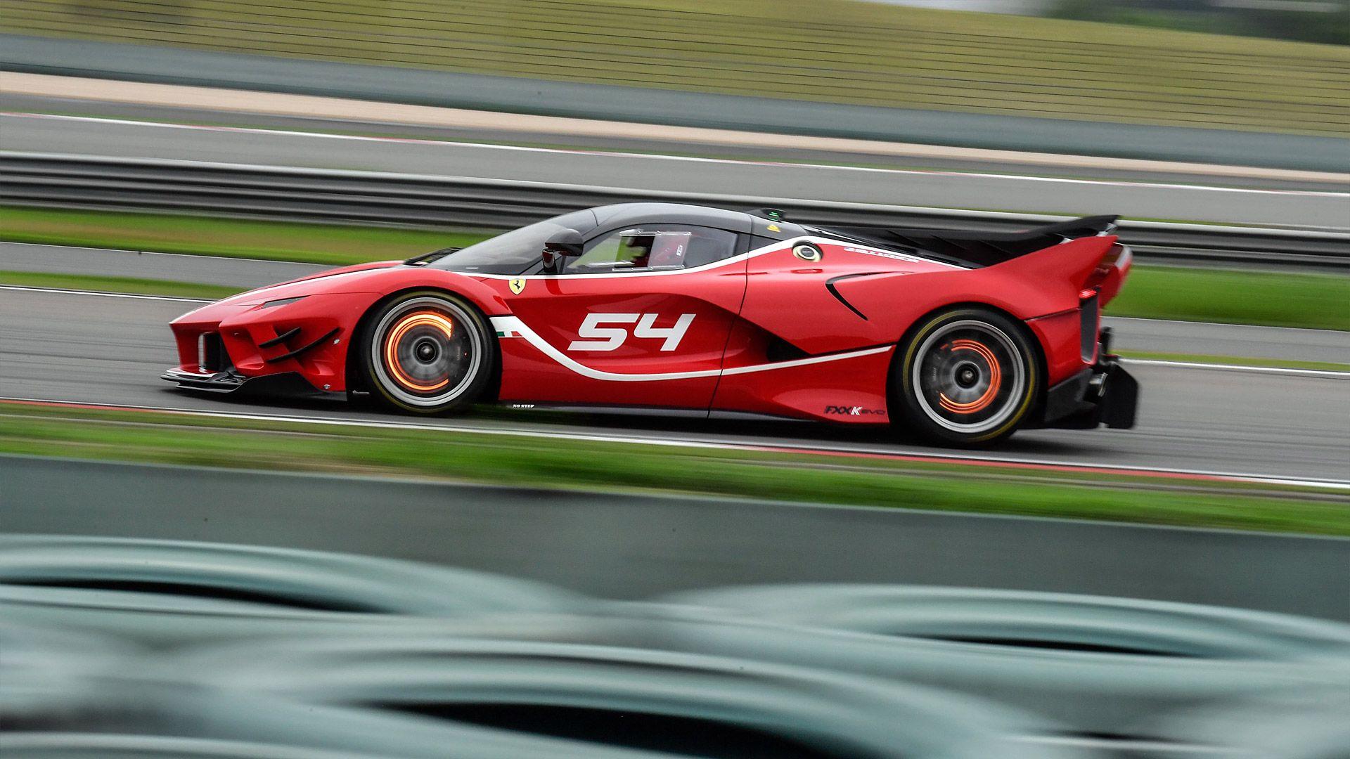
[[[1197,469],[1170,469],[1170,467],[1154,467],[1154,466],[1126,466],[1126,465],[1108,465],[1108,463],[1084,463],[1073,461],[1054,461],[1054,459],[1022,459],[1011,456],[998,456],[998,455],[975,455],[975,454],[960,454],[960,452],[929,452],[929,451],[878,451],[869,448],[859,448],[849,446],[836,446],[826,442],[819,443],[787,443],[787,442],[763,442],[763,443],[730,443],[730,442],[716,442],[716,440],[698,440],[698,439],[678,439],[678,438],[648,438],[640,434],[637,435],[613,435],[613,434],[599,434],[599,432],[574,432],[574,431],[541,431],[541,429],[524,429],[524,428],[505,428],[505,427],[470,427],[464,424],[428,424],[420,421],[394,421],[394,420],[367,420],[367,419],[342,419],[342,417],[310,417],[310,416],[289,416],[279,413],[240,413],[240,412],[224,412],[224,411],[201,411],[201,409],[188,409],[188,408],[174,408],[174,407],[153,407],[153,405],[139,405],[139,404],[101,404],[97,401],[63,401],[51,398],[24,398],[24,397],[5,397],[0,396],[0,401],[20,401],[20,402],[35,402],[35,404],[50,404],[58,407],[107,407],[108,411],[117,409],[132,409],[132,411],[153,411],[181,416],[204,416],[204,417],[221,417],[221,419],[238,419],[244,421],[284,421],[290,424],[312,424],[312,425],[328,425],[328,427],[366,427],[374,429],[417,429],[429,432],[460,432],[471,435],[501,435],[501,436],[520,436],[520,438],[537,438],[548,440],[587,440],[597,443],[624,443],[624,444],[640,444],[640,446],[663,446],[663,447],[676,447],[676,448],[706,448],[706,450],[728,450],[728,451],[792,451],[802,454],[852,454],[861,456],[876,456],[876,458],[914,458],[914,459],[932,459],[937,462],[948,461],[954,463],[995,463],[995,465],[1014,465],[1014,466],[1030,466],[1030,467],[1053,467],[1053,469],[1071,469],[1083,471],[1119,471],[1122,474],[1160,474],[1160,475],[1187,475],[1196,478],[1212,478],[1223,479],[1231,482],[1250,482],[1260,485],[1287,485],[1299,488],[1318,488],[1328,490],[1346,490],[1350,492],[1350,481],[1338,479],[1303,479],[1296,477],[1278,477],[1268,474],[1251,474],[1251,473],[1231,473],[1231,471],[1207,471]],[[653,432],[659,435],[668,435],[668,432]]]

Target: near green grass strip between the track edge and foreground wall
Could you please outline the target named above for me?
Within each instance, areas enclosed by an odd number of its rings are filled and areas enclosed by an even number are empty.
[[[663,492],[842,505],[983,512],[1148,524],[1350,535],[1345,498],[1299,489],[1176,479],[992,470],[547,440],[420,429],[367,429],[0,402],[0,451],[113,461],[428,477],[610,492]],[[624,461],[622,477],[613,462]]]

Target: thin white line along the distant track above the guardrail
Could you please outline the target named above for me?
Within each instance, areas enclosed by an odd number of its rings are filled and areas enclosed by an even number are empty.
[[[65,116],[53,113],[23,113],[23,112],[0,112],[0,116],[14,117],[14,119],[53,119],[53,120],[66,120],[66,122],[85,122],[85,123],[101,123],[101,124],[116,124],[116,126],[132,126],[132,127],[147,127],[147,128],[165,128],[165,130],[189,130],[189,131],[212,131],[212,132],[238,132],[238,134],[262,134],[273,136],[294,136],[294,138],[309,138],[309,139],[342,139],[342,140],[356,140],[356,142],[379,142],[379,143],[410,143],[410,145],[429,145],[429,146],[443,146],[443,147],[473,147],[481,150],[501,150],[513,153],[552,153],[552,154],[574,154],[574,155],[603,155],[610,158],[629,158],[629,159],[656,159],[656,161],[679,161],[686,163],[728,163],[737,166],[794,166],[802,169],[815,169],[815,170],[832,170],[832,172],[868,172],[868,173],[884,173],[895,176],[941,176],[941,177],[979,177],[979,178],[992,178],[992,180],[1014,180],[1014,181],[1029,181],[1029,182],[1054,182],[1054,184],[1072,184],[1084,186],[1118,186],[1118,188],[1165,188],[1165,189],[1185,189],[1185,190],[1206,190],[1206,192],[1224,192],[1224,193],[1241,193],[1241,194],[1261,194],[1261,196],[1301,196],[1301,197],[1345,197],[1350,199],[1350,193],[1345,192],[1327,192],[1327,190],[1280,190],[1280,189],[1251,189],[1251,188],[1231,188],[1231,186],[1215,186],[1215,185],[1195,185],[1195,184],[1176,184],[1176,182],[1127,182],[1127,181],[1108,181],[1108,180],[1072,180],[1061,177],[1035,177],[1023,174],[996,174],[996,173],[975,173],[975,172],[919,172],[913,169],[878,169],[871,166],[832,166],[819,163],[792,163],[783,161],[737,161],[730,158],[699,158],[691,155],[663,155],[655,153],[621,153],[610,150],[580,150],[580,149],[558,149],[558,147],[525,147],[517,145],[490,145],[478,142],[455,142],[455,140],[440,140],[440,139],[424,139],[424,138],[390,138],[390,136],[371,136],[371,135],[343,135],[332,132],[305,132],[305,131],[292,131],[292,130],[269,130],[261,127],[215,127],[207,124],[174,124],[165,122],[138,122],[135,119],[111,119],[100,116]]]

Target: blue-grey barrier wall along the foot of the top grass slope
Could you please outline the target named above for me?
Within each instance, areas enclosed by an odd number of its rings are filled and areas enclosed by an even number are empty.
[[[1035,153],[1350,172],[1350,140],[807,103],[0,34],[0,70]]]

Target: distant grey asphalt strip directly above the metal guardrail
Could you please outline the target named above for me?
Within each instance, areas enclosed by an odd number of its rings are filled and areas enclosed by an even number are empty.
[[[1350,226],[1350,193],[900,172],[0,115],[0,149],[1037,213]]]

